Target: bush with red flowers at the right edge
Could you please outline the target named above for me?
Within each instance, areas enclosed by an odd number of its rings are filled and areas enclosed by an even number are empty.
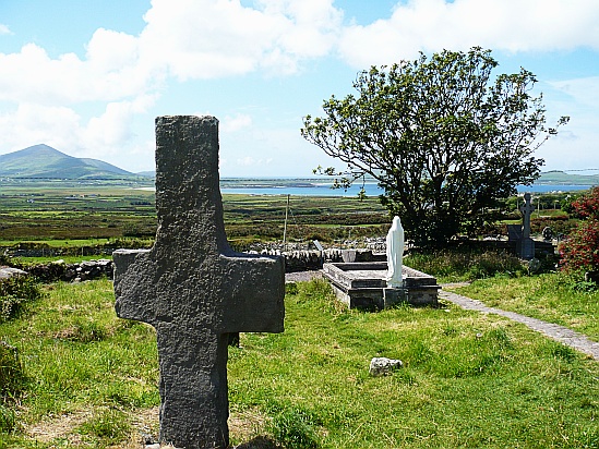
[[[560,245],[560,265],[567,271],[599,270],[599,187],[572,203],[586,217]]]

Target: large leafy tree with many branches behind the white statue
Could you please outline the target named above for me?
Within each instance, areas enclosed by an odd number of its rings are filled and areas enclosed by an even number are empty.
[[[475,47],[372,66],[358,74],[357,96],[325,100],[325,117],[307,116],[301,134],[347,163],[347,175],[320,168],[344,175],[336,185],[374,178],[415,244],[446,246],[538,178],[543,160],[532,153],[556,134],[544,126],[542,95],[530,95],[535,75],[520,69],[492,78],[496,65]]]

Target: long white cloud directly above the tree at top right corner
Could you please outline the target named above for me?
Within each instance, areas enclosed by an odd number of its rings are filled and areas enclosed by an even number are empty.
[[[358,68],[414,59],[418,51],[481,46],[510,52],[599,49],[594,0],[409,0],[391,17],[347,26],[339,54]]]

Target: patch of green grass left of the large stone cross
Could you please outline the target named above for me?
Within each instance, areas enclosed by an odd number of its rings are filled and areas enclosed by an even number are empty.
[[[0,339],[17,349],[26,378],[17,429],[84,413],[70,432],[107,447],[128,437],[132,410],[159,402],[154,331],[118,319],[113,302],[107,280],[59,282],[27,314],[0,326]],[[0,448],[50,448],[60,439],[36,444],[19,433],[0,434]]]

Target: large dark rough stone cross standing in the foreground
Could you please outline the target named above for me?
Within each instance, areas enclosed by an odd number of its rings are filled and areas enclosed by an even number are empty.
[[[113,253],[115,308],[156,328],[160,442],[225,448],[228,337],[283,331],[285,267],[227,243],[215,118],[156,119],[156,210],[152,250]]]

